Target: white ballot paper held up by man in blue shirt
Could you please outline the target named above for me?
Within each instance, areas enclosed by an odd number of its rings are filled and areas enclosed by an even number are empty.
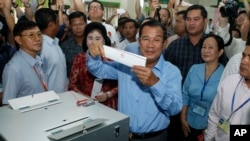
[[[104,45],[105,57],[126,66],[146,66],[146,57]]]

